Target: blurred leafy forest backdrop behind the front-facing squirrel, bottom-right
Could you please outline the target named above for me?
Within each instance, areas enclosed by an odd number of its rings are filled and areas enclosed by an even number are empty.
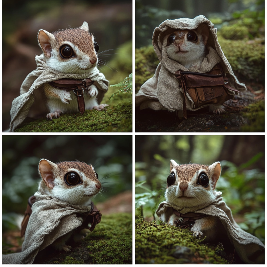
[[[264,135],[136,136],[136,216],[155,219],[165,200],[170,159],[179,164],[221,162],[216,190],[242,229],[264,242]]]

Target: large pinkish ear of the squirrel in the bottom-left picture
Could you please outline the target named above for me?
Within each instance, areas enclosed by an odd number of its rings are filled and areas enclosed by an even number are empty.
[[[57,164],[47,160],[41,159],[39,163],[39,173],[42,176],[45,185],[52,189],[54,187],[55,171],[57,169]]]

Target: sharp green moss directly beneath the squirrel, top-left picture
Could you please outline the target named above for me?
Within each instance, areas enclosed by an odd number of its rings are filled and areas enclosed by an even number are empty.
[[[17,128],[15,132],[131,132],[131,95],[121,94],[112,102],[114,104],[104,111],[86,110],[83,115],[63,114],[52,120],[38,119]]]

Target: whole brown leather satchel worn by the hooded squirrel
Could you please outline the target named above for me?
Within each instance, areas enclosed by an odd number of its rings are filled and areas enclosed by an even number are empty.
[[[178,70],[175,77],[180,80],[179,86],[183,88],[183,116],[186,114],[186,92],[194,102],[195,108],[209,104],[223,104],[226,100],[233,99],[234,95],[228,92],[239,92],[228,84],[221,65],[217,64],[210,72],[199,73]]]

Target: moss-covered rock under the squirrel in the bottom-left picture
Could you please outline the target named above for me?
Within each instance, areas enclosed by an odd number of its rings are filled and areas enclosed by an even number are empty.
[[[69,245],[70,253],[46,251],[33,264],[132,264],[132,214],[103,215],[80,244]]]

